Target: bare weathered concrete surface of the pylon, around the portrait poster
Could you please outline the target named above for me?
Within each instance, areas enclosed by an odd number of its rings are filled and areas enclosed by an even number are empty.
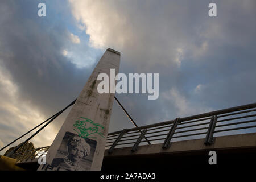
[[[64,136],[67,137],[67,132],[71,133],[71,135],[82,135],[80,139],[82,137],[83,139],[87,138],[87,143],[89,138],[90,142],[94,142],[94,146],[97,142],[95,149],[93,148],[93,145],[89,143],[91,147],[89,150],[90,155],[88,155],[87,159],[85,159],[82,164],[80,162],[80,166],[77,168],[81,170],[101,169],[114,94],[98,93],[97,85],[101,81],[98,81],[97,77],[100,73],[106,73],[110,77],[110,69],[115,69],[115,74],[117,74],[119,72],[119,63],[120,53],[113,49],[107,49],[96,65],[92,75],[89,77],[89,80],[86,82],[86,85],[73,105],[72,110],[69,112],[63,126],[49,148],[46,156],[47,164],[50,166],[48,169],[57,170],[57,167],[52,167],[53,159],[58,158],[58,160],[61,161],[61,159],[64,159],[68,155],[68,140],[64,140]],[[84,118],[88,119],[88,121]],[[83,121],[83,126],[80,122],[81,125],[74,127],[76,121]],[[91,121],[93,121],[93,123],[91,123]],[[88,137],[84,137],[86,135]],[[88,160],[91,160],[92,162]],[[46,169],[46,166],[44,166],[43,170]],[[42,167],[43,165],[39,167],[39,170],[42,169]]]

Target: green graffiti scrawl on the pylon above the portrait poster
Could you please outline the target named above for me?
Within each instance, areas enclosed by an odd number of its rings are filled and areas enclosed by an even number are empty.
[[[104,129],[104,127],[100,124],[93,123],[91,119],[80,117],[79,120],[73,124],[73,130],[75,130],[80,137],[83,138],[97,138],[92,135],[98,134],[101,137],[104,137],[104,134],[100,132],[100,130]],[[105,138],[105,137],[104,137]]]

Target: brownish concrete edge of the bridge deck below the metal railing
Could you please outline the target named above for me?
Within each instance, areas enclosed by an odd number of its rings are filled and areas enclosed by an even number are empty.
[[[131,152],[132,147],[115,148],[112,154],[105,151],[105,157],[111,156],[131,156],[131,155],[155,155],[155,154],[175,154],[196,152],[204,150],[230,150],[239,148],[255,148],[256,133],[229,135],[224,137],[215,137],[215,142],[210,146],[205,146],[204,139],[184,140],[173,142],[171,147],[164,150],[163,144],[151,144],[139,146],[138,150]]]

